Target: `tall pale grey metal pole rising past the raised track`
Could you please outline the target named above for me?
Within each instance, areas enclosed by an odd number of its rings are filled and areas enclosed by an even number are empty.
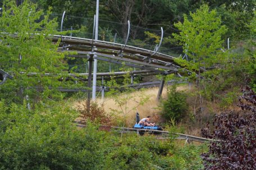
[[[99,28],[99,0],[97,0],[97,2],[96,2],[95,40],[98,40],[98,28]],[[96,81],[97,81],[97,59],[94,59],[94,63],[93,63],[93,95],[92,95],[93,100],[96,100]]]

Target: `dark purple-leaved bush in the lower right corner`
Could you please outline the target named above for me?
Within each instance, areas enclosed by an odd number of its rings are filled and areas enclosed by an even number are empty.
[[[202,155],[205,169],[256,169],[256,95],[249,87],[242,89],[238,106],[243,114],[231,111],[216,115],[213,132],[202,129],[205,138],[218,139]]]

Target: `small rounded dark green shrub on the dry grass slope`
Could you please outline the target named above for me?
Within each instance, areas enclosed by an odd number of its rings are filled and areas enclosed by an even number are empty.
[[[166,121],[181,121],[188,112],[185,93],[177,91],[177,86],[167,88],[167,99],[162,101],[162,116]]]

